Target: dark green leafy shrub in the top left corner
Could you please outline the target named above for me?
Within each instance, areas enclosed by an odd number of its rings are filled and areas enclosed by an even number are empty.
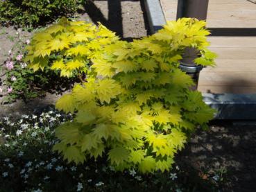
[[[71,16],[83,8],[84,0],[3,0],[0,1],[0,24],[39,26]]]

